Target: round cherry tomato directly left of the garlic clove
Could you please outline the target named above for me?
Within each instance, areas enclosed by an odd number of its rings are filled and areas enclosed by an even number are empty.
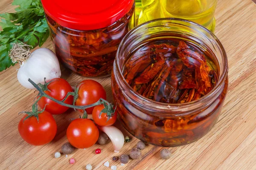
[[[91,147],[98,138],[98,127],[90,119],[75,119],[67,127],[67,140],[76,148]]]

